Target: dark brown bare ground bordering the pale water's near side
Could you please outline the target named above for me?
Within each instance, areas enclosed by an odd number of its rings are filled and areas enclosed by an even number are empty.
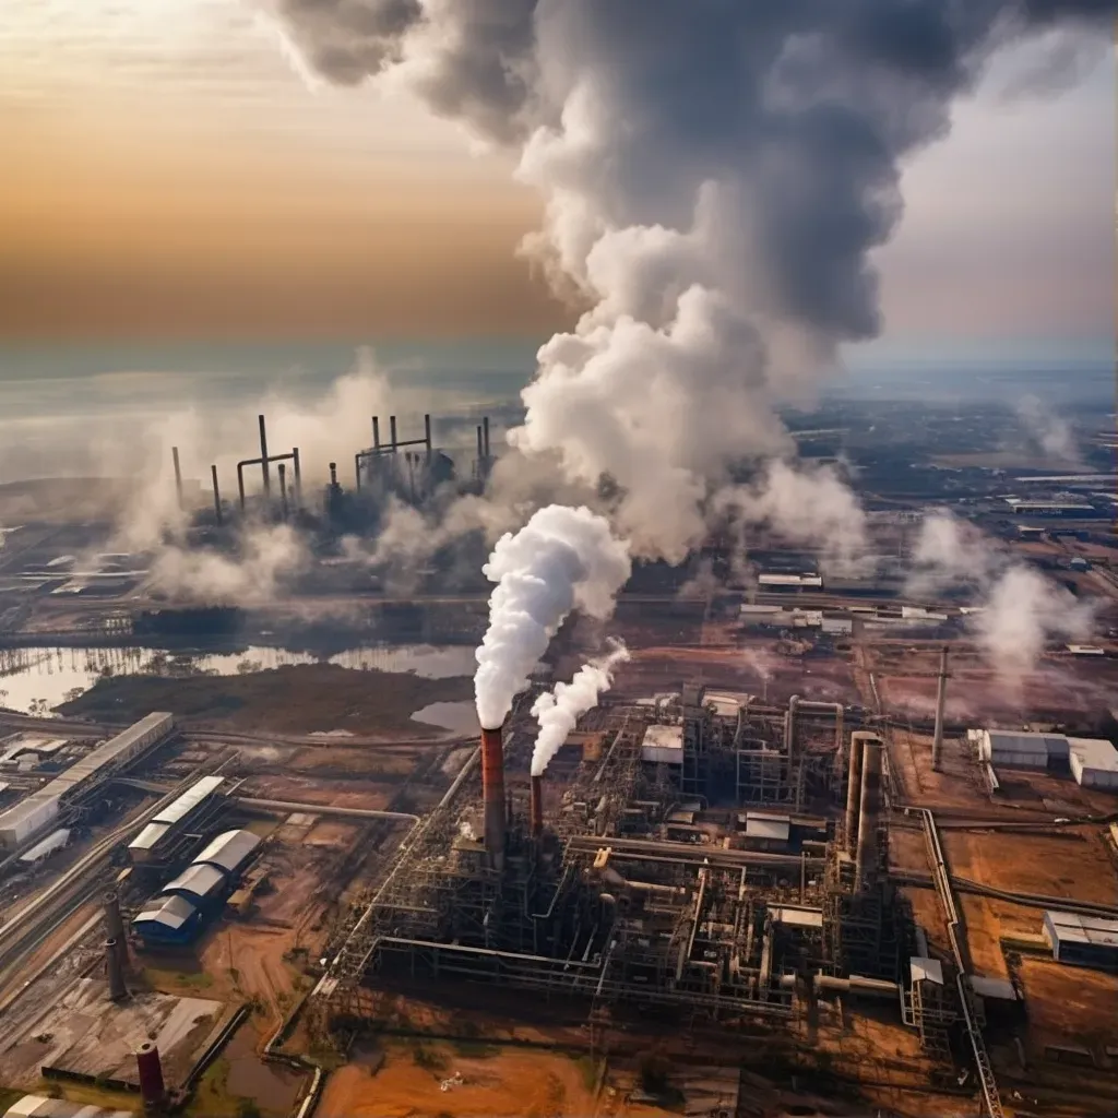
[[[473,682],[466,676],[428,680],[408,672],[354,672],[334,664],[299,664],[248,675],[117,676],[98,681],[58,710],[116,720],[168,710],[229,730],[286,735],[349,730],[437,738],[437,728],[425,729],[413,722],[411,716],[434,702],[472,698]]]

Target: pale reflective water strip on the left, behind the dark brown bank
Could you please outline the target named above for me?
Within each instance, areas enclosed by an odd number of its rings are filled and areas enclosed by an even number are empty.
[[[464,645],[378,645],[350,648],[330,657],[263,646],[237,653],[168,653],[146,647],[16,648],[0,651],[0,707],[28,714],[49,713],[50,708],[76,698],[98,679],[113,675],[236,675],[314,663],[353,671],[413,672],[433,680],[473,675],[477,666],[474,650]]]

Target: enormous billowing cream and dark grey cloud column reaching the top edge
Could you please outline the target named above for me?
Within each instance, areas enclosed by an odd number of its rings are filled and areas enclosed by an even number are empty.
[[[792,453],[776,406],[878,331],[869,254],[901,217],[901,160],[996,48],[1061,17],[1109,34],[1115,7],[259,2],[326,80],[383,76],[512,151],[546,205],[525,247],[588,310],[540,350],[509,440],[608,480],[634,551],[672,560],[730,463]]]

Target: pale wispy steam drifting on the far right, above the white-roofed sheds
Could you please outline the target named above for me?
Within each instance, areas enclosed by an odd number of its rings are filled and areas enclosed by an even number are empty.
[[[925,519],[913,563],[910,593],[953,585],[977,590],[983,608],[968,622],[1003,683],[1018,684],[1036,666],[1049,639],[1082,639],[1091,632],[1089,604],[949,512]]]

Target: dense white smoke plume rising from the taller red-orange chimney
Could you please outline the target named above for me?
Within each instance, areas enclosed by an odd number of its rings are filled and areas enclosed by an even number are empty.
[[[578,607],[604,619],[629,577],[628,544],[589,509],[549,505],[515,534],[503,536],[483,568],[496,582],[490,624],[477,650],[477,718],[493,729],[547,651],[559,626]]]

